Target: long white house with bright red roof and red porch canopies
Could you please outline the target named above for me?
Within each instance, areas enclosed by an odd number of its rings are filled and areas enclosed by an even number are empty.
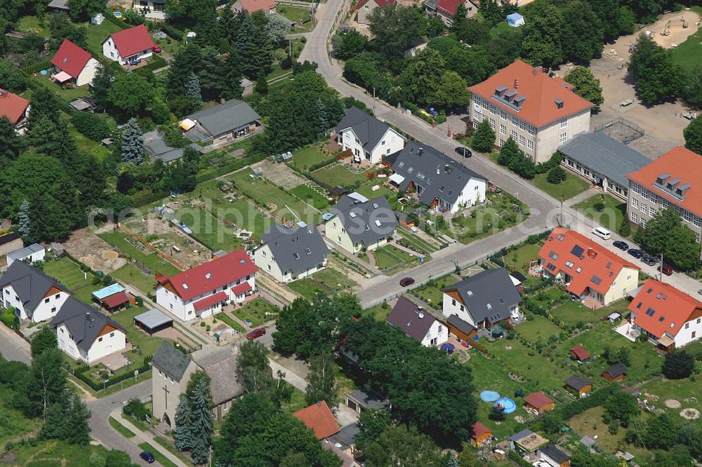
[[[211,316],[250,299],[256,271],[246,250],[237,250],[176,276],[158,276],[156,302],[184,321]]]

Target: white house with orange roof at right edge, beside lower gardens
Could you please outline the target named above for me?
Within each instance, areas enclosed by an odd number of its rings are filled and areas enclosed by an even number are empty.
[[[629,311],[634,329],[664,351],[702,337],[702,302],[658,280],[644,282]]]

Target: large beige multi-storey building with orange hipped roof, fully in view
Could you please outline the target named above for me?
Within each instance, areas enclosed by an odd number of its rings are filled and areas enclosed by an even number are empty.
[[[468,90],[473,128],[489,121],[498,147],[512,137],[535,163],[548,161],[560,144],[590,130],[592,103],[559,77],[521,60]]]

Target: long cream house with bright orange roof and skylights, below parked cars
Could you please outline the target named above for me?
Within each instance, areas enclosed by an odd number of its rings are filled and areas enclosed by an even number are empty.
[[[638,285],[639,266],[574,230],[553,229],[538,258],[543,276],[555,278],[576,297],[585,297],[585,306],[607,306]]]

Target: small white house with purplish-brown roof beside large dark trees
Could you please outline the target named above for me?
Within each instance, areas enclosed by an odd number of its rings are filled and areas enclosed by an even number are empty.
[[[439,346],[449,340],[449,328],[446,325],[405,297],[397,299],[385,320],[425,347]]]

